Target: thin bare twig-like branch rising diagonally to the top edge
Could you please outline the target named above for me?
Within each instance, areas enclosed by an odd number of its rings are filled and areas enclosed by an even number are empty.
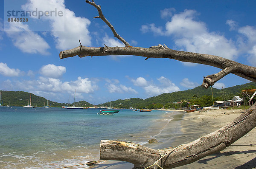
[[[123,44],[125,44],[125,46],[130,46],[130,44],[128,42],[126,42],[125,39],[123,39],[122,37],[120,37],[119,34],[116,33],[116,30],[114,29],[113,25],[111,25],[110,22],[108,22],[108,20],[104,17],[104,15],[102,14],[102,10],[100,5],[97,5],[95,2],[90,2],[89,0],[86,0],[85,2],[89,3],[90,5],[94,6],[95,8],[97,8],[98,12],[99,12],[99,16],[97,17],[93,17],[93,18],[100,18],[102,19],[109,28],[111,28],[111,31],[113,32],[114,36],[119,39],[121,42],[123,42]]]

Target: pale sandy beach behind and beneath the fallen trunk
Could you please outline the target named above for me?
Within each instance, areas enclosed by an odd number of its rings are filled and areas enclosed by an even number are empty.
[[[177,110],[174,110],[177,111]],[[170,122],[156,136],[158,142],[146,144],[154,149],[167,148],[186,144],[206,135],[210,132],[218,130],[229,122],[238,117],[243,110],[208,110],[199,113],[183,113],[183,120],[176,124]],[[177,112],[179,113],[179,112]],[[167,116],[168,114],[166,114]],[[179,123],[179,124],[178,124]],[[181,133],[175,132],[171,137],[166,138],[168,133],[173,132],[175,127],[180,126]],[[92,166],[90,168],[97,169],[131,169],[133,164],[121,161],[106,161],[102,164]],[[209,155],[194,163],[177,167],[177,169],[254,169],[256,168],[256,128],[248,132],[238,141],[216,154]]]

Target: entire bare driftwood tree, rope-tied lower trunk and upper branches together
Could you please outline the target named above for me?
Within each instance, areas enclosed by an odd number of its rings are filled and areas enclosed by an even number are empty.
[[[150,48],[139,48],[130,46],[119,34],[116,33],[114,27],[102,14],[101,7],[94,1],[86,2],[94,6],[99,16],[94,18],[102,19],[113,32],[114,36],[119,39],[125,47],[101,47],[90,48],[82,46],[61,51],[60,59],[73,56],[109,56],[109,55],[131,55],[143,56],[148,58],[169,58],[182,62],[200,63],[204,65],[220,68],[221,71],[204,77],[202,87],[208,88],[226,76],[233,73],[244,79],[256,82],[256,68],[243,65],[229,59],[208,54],[197,54],[185,51],[175,51],[164,45],[151,46]],[[79,41],[80,42],[80,41]],[[145,59],[145,60],[146,60]],[[100,158],[104,160],[127,161],[134,164],[134,169],[151,169],[162,167],[164,169],[182,166],[197,161],[213,152],[225,149],[227,146],[244,136],[247,132],[256,127],[256,104],[242,113],[238,118],[230,124],[222,127],[215,132],[198,138],[189,144],[177,146],[174,149],[150,149],[145,146],[122,141],[106,141],[102,140],[100,144]]]

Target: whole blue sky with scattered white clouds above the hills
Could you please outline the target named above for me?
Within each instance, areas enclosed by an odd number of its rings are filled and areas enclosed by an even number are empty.
[[[192,89],[201,85],[203,76],[220,71],[172,59],[145,61],[139,56],[59,59],[59,52],[79,46],[79,39],[88,47],[123,44],[102,20],[93,19],[98,12],[85,0],[16,2],[2,0],[0,5],[0,90],[26,91],[67,103],[69,99],[72,102],[76,89],[76,101],[100,104]],[[132,46],[165,44],[175,50],[212,54],[256,66],[254,0],[95,2],[101,5],[117,33]],[[32,17],[29,22],[8,22],[6,9],[12,4],[23,11],[57,8],[63,15],[42,17],[43,26]],[[213,87],[247,82],[250,81],[230,74]]]

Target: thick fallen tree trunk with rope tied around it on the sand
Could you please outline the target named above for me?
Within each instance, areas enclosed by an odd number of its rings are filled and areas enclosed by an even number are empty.
[[[148,166],[154,169],[153,164],[157,161],[162,168],[170,169],[223,150],[254,127],[256,127],[256,104],[221,129],[174,149],[157,150],[130,142],[102,140],[100,159],[127,161],[134,164],[134,169],[145,169]]]

